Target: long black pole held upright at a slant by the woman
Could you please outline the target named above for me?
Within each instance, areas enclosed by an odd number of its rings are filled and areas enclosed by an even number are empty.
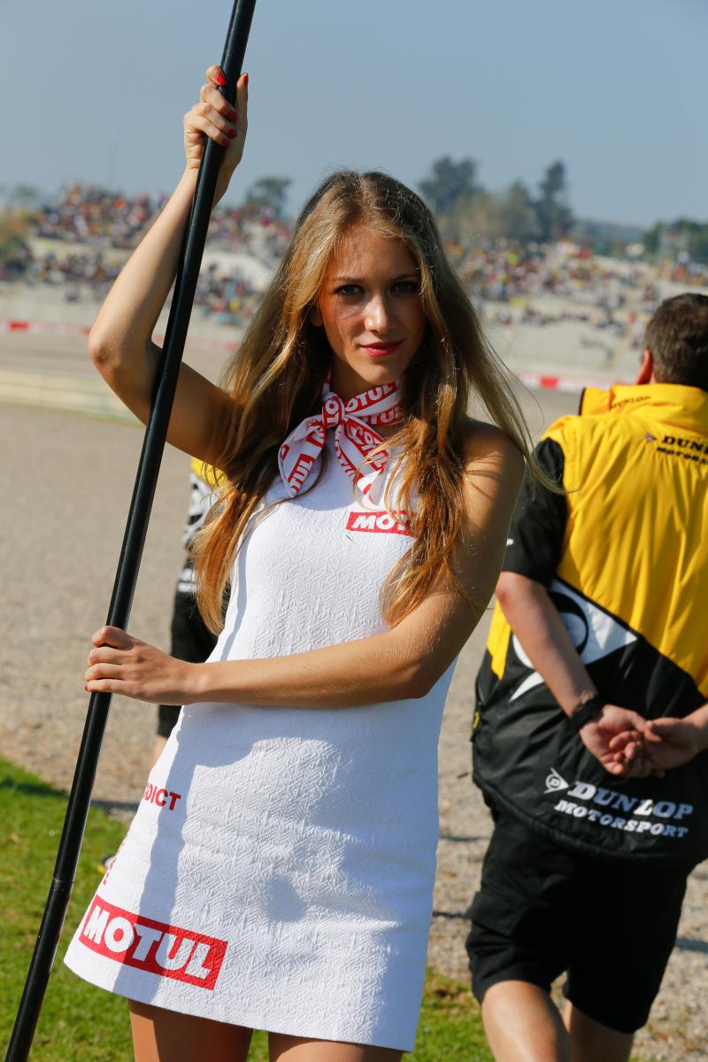
[[[221,61],[226,76],[226,85],[221,91],[231,103],[236,98],[236,83],[241,74],[255,6],[256,0],[235,0],[231,11]],[[207,140],[196,178],[194,200],[177,271],[162,358],[145,426],[142,452],[138,463],[123,545],[108,607],[106,623],[110,627],[125,628],[131,615],[133,595],[148,533],[148,524],[162,460],[223,153],[223,148],[214,143],[213,140]],[[5,1062],[24,1062],[32,1047],[34,1030],[45,998],[76,873],[110,699],[110,693],[91,693],[56,856],[54,877],[49,890],[47,906],[24,982]]]

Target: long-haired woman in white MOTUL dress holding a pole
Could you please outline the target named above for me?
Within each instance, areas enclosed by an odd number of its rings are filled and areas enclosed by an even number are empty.
[[[145,419],[151,342],[203,136],[243,151],[207,73],[187,169],[103,306],[99,370]],[[466,415],[472,389],[500,428]],[[500,430],[501,429],[501,430]],[[335,174],[308,203],[222,388],[180,371],[169,441],[223,469],[201,536],[206,664],[93,636],[86,685],[184,704],[67,961],[131,1000],[136,1058],[396,1060],[414,1045],[454,660],[529,453],[422,202]]]

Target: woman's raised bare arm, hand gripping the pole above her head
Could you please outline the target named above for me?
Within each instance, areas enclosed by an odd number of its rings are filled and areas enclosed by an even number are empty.
[[[192,204],[204,137],[226,147],[215,201],[228,187],[243,154],[247,79],[237,88],[237,110],[217,90],[219,67],[207,71],[201,102],[185,115],[187,165],[174,193],[122,270],[91,328],[88,348],[97,369],[119,398],[143,423],[150,412],[153,382],[161,352],[152,342],[159,313],[175,278]],[[219,458],[225,433],[228,396],[183,364],[168,442],[206,461]]]

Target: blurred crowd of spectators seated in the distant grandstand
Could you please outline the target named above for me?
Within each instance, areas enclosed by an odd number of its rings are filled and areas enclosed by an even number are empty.
[[[67,301],[105,297],[131,249],[165,196],[122,195],[85,184],[67,185],[56,201],[30,215],[25,239],[0,257],[0,286],[22,282],[59,287]],[[291,222],[262,204],[218,206],[208,247],[251,256],[273,269],[291,235]],[[449,251],[473,298],[496,325],[543,326],[581,322],[639,342],[641,322],[660,301],[657,280],[708,286],[708,270],[678,256],[661,270],[634,257],[599,257],[569,240],[462,246]],[[241,325],[253,313],[258,290],[228,263],[202,271],[195,306],[219,322]]]

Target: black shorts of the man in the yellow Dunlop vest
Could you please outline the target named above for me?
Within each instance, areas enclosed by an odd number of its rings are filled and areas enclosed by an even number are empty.
[[[687,872],[577,856],[512,816],[495,832],[471,906],[472,991],[499,981],[564,993],[588,1017],[635,1032],[649,1017],[676,940]]]

